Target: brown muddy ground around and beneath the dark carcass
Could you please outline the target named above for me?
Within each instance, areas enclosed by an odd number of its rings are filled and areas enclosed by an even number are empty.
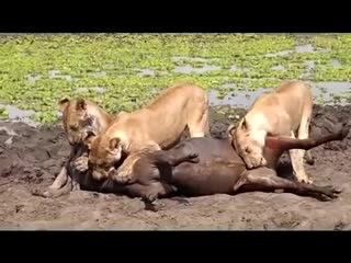
[[[241,116],[244,111],[239,111]],[[316,106],[310,134],[328,133],[335,122],[350,118],[351,106]],[[226,115],[212,111],[212,135],[222,137]],[[14,134],[14,133],[16,134]],[[351,135],[313,151],[306,170],[316,184],[343,192],[330,202],[287,193],[244,193],[161,199],[157,211],[138,198],[87,191],[50,199],[33,196],[59,172],[69,146],[60,126],[35,129],[0,123],[1,229],[351,229]],[[282,159],[282,168],[288,168]],[[286,170],[286,169],[284,169]]]

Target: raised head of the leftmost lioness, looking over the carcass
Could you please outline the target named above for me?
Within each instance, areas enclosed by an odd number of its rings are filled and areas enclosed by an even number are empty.
[[[63,124],[70,145],[82,142],[87,130],[94,129],[94,117],[89,114],[84,99],[61,99],[58,107],[63,113]]]

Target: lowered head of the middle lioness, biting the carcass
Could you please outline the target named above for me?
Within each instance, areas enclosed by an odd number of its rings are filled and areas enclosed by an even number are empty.
[[[84,144],[90,149],[88,165],[92,176],[97,180],[105,179],[114,169],[114,164],[122,158],[122,144],[120,138],[103,140],[89,132]]]

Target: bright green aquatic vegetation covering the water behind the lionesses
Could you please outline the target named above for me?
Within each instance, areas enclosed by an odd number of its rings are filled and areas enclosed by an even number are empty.
[[[179,81],[217,90],[220,98],[285,79],[351,81],[350,46],[346,34],[1,35],[0,103],[33,110],[34,119],[50,124],[64,96],[89,98],[118,112],[140,107]],[[195,70],[174,70],[185,66]]]

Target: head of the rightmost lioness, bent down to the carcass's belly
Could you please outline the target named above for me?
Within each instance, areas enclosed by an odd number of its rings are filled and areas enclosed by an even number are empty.
[[[267,164],[263,158],[264,132],[254,130],[248,121],[242,118],[237,128],[231,125],[227,133],[236,151],[249,169]]]

